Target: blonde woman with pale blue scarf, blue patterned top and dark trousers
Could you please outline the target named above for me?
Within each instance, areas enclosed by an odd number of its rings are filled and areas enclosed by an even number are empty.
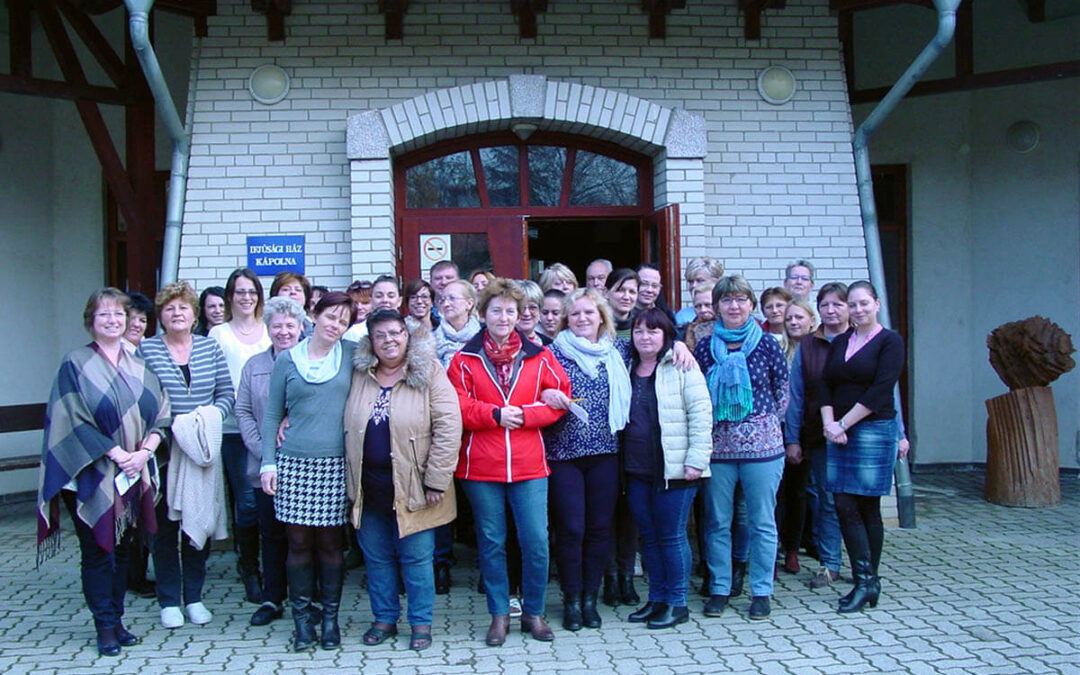
[[[555,562],[563,586],[563,627],[599,627],[596,596],[611,548],[619,492],[616,433],[630,418],[630,345],[615,335],[607,300],[578,288],[564,300],[564,329],[551,351],[570,380],[588,421],[566,415],[544,430],[551,464]],[[558,394],[565,399],[565,394]],[[559,401],[553,407],[565,406]]]

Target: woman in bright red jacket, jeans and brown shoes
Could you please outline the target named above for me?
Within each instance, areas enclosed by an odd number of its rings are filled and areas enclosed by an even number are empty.
[[[515,328],[525,296],[513,282],[496,279],[484,288],[480,312],[485,328],[450,361],[447,375],[458,391],[464,438],[457,477],[473,508],[480,569],[487,589],[491,626],[486,643],[502,645],[510,629],[507,580],[507,504],[522,545],[522,631],[552,640],[544,622],[548,590],[548,475],[540,429],[563,416],[540,401],[540,392],[570,394],[563,367],[546,348]]]

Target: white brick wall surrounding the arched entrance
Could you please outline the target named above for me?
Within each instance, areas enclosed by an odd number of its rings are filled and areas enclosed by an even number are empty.
[[[376,3],[310,0],[294,3],[283,43],[266,41],[265,18],[246,0],[217,5],[192,65],[180,274],[199,286],[245,262],[248,234],[305,233],[308,273],[332,287],[391,270],[391,164],[348,160],[348,118],[404,114],[416,125],[416,145],[401,148],[408,150],[441,133],[481,131],[482,110],[509,120],[498,87],[522,73],[554,84],[556,108],[586,111],[563,131],[630,147],[643,139],[636,149],[656,158],[656,204],[680,203],[684,252],[719,257],[756,286],[778,282],[794,257],[812,259],[822,280],[866,275],[850,106],[827,0],[767,11],[758,42],[742,38],[733,3],[688,3],[667,17],[661,41],[648,39],[638,4],[622,0],[550,3],[536,40],[518,38],[502,0],[416,2],[405,39],[387,42]],[[265,63],[292,78],[274,106],[246,91]],[[757,72],[770,64],[798,80],[783,106],[756,91]],[[459,93],[472,97],[462,98],[461,123],[440,123],[437,90],[463,85]],[[622,102],[647,114],[626,117]],[[665,116],[678,110],[704,118],[700,168],[663,151]],[[369,189],[350,192],[350,183]]]

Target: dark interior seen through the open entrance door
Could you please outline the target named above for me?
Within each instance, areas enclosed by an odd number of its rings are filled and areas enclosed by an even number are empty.
[[[562,262],[585,283],[585,268],[596,258],[616,268],[635,268],[642,261],[642,225],[638,218],[529,218],[529,276],[553,262]]]

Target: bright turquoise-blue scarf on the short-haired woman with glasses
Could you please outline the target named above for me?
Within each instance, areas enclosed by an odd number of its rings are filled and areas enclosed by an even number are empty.
[[[734,330],[725,328],[723,321],[713,326],[710,351],[714,363],[708,369],[708,393],[716,421],[739,421],[754,411],[754,389],[746,356],[761,341],[762,335],[765,332],[753,318]],[[742,347],[730,352],[728,345],[733,342],[742,342]]]

